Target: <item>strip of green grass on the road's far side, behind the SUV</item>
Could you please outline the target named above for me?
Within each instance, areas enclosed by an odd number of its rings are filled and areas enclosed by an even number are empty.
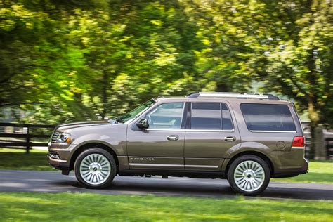
[[[46,151],[0,148],[0,169],[55,170],[48,166]],[[277,178],[272,181],[289,181],[300,183],[333,183],[333,162],[310,162],[309,173],[291,178]]]

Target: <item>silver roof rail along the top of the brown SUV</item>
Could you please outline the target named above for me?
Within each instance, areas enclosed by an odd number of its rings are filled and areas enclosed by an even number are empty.
[[[221,98],[245,98],[245,99],[259,99],[259,100],[280,100],[278,96],[272,94],[259,94],[259,93],[202,93],[195,92],[188,94],[187,98],[200,98],[200,97],[221,97]]]

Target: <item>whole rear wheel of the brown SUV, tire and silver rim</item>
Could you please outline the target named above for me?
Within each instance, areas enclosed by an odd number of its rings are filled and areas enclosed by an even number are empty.
[[[237,193],[258,195],[270,181],[268,164],[255,155],[244,155],[235,159],[228,171],[228,181]]]

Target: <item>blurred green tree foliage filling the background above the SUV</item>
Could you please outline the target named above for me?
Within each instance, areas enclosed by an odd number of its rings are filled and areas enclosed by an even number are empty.
[[[0,108],[56,124],[158,95],[275,92],[333,125],[330,1],[0,2]]]

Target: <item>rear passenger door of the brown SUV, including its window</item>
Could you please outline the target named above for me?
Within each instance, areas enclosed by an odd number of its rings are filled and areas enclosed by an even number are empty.
[[[186,171],[221,171],[230,148],[240,146],[226,103],[192,103],[184,148]]]

